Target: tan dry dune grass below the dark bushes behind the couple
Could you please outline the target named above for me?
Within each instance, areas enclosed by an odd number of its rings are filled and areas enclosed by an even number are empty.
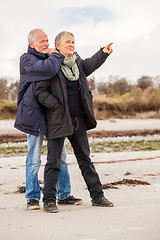
[[[160,118],[160,88],[145,90],[134,88],[123,95],[93,95],[97,120],[116,118],[138,118],[137,113],[154,111],[152,118]],[[16,102],[0,102],[0,119],[15,119]]]

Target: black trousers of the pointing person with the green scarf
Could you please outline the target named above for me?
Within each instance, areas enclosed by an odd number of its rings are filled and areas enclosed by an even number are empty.
[[[78,129],[68,137],[77,158],[82,176],[87,184],[92,200],[103,197],[102,184],[89,158],[90,149],[84,119],[78,118]],[[56,201],[56,183],[60,171],[60,157],[64,138],[48,141],[47,164],[44,172],[44,204]]]

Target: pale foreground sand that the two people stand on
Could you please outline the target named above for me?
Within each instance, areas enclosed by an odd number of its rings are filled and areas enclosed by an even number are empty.
[[[115,125],[114,125],[115,126]],[[144,126],[144,125],[143,125]],[[67,155],[72,194],[83,199],[79,206],[59,206],[58,213],[26,210],[25,156],[0,158],[0,233],[3,240],[159,240],[160,151],[91,153],[103,184],[122,179],[150,185],[118,186],[104,190],[113,208],[93,207],[73,154]],[[43,180],[46,156],[39,179]],[[126,176],[125,173],[131,175]]]

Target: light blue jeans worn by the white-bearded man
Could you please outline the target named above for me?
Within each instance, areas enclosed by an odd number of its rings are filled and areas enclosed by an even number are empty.
[[[27,199],[40,200],[41,191],[38,181],[38,171],[41,166],[41,149],[44,134],[38,137],[27,134],[28,153],[26,157],[26,192]],[[66,148],[63,146],[60,160],[60,174],[57,183],[57,196],[59,199],[65,199],[71,194],[70,176],[68,164],[66,163]]]

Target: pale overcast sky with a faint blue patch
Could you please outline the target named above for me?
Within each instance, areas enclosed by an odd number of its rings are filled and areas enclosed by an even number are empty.
[[[61,31],[75,35],[84,59],[113,42],[113,53],[92,76],[136,81],[160,75],[160,0],[0,0],[0,77],[19,79],[19,57],[30,30],[42,28],[54,47]]]

